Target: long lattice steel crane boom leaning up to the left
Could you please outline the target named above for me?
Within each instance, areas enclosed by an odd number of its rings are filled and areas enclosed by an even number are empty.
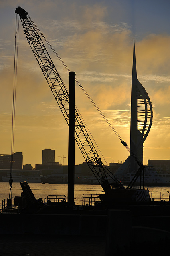
[[[38,31],[34,27],[34,24],[28,13],[21,7],[16,8],[16,14],[19,14],[22,26],[24,29],[24,34],[28,44],[30,45],[34,56],[47,80],[47,83],[57,101],[63,116],[69,124],[69,94],[67,88],[65,87],[53,61],[51,60],[47,49],[45,48]],[[104,191],[110,188],[107,176],[112,178],[113,182],[120,184],[120,182],[113,176],[110,170],[103,165],[101,158],[99,157],[93,142],[91,141],[83,122],[75,108],[75,141],[85,161],[90,167],[91,171],[97,178],[99,184]]]

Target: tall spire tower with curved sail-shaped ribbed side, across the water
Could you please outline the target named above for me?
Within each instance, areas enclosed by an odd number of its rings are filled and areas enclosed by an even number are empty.
[[[137,78],[135,43],[133,45],[131,121],[130,121],[130,156],[116,174],[136,172],[139,168],[135,158],[143,164],[143,143],[152,126],[153,111],[150,98]]]

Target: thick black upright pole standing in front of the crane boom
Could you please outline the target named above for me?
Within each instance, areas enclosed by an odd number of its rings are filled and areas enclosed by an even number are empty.
[[[75,172],[75,72],[69,72],[68,203],[74,205]]]

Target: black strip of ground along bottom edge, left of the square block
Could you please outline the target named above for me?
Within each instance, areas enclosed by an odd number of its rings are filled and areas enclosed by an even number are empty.
[[[3,256],[104,256],[105,240],[92,236],[0,235]]]

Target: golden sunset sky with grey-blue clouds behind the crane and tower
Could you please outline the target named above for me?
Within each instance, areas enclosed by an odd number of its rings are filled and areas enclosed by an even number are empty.
[[[18,6],[28,12],[69,70],[76,72],[77,80],[129,146],[135,40],[138,80],[153,106],[152,128],[144,142],[144,164],[148,159],[170,159],[169,0],[0,0],[0,154],[11,152]],[[53,52],[49,50],[49,54],[68,88],[68,71]],[[17,69],[14,152],[23,152],[23,164],[34,167],[42,163],[42,150],[51,148],[55,162],[62,164],[64,156],[67,164],[68,126],[21,23]],[[76,106],[107,164],[124,162],[127,150],[79,86]],[[76,145],[75,164],[82,162]]]

